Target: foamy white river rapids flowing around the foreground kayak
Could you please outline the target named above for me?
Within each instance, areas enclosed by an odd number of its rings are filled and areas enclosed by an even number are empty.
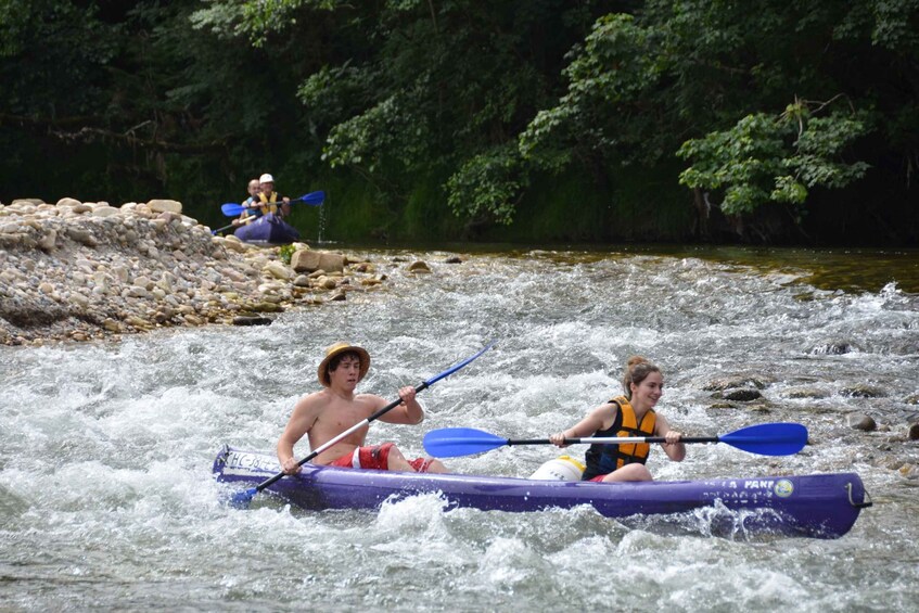
[[[0,610],[919,609],[915,253],[357,253],[384,289],[270,327],[0,347]],[[405,272],[416,258],[433,273]],[[658,478],[855,471],[875,506],[837,540],[711,536],[702,515],[445,510],[436,496],[372,513],[222,506],[219,448],[273,449],[337,340],[370,350],[361,388],[386,398],[496,342],[419,395],[421,426],[371,426],[407,454],[434,427],[545,437],[617,394],[640,354],[662,367],[659,410],[678,430],[810,431],[792,457],[697,445],[675,463],[656,449]],[[764,398],[730,407],[705,389],[731,376]],[[878,430],[851,429],[856,412]],[[525,476],[556,456],[503,447],[448,465]]]

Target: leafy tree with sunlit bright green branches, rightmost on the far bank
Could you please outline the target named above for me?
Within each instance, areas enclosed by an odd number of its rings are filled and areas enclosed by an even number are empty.
[[[907,197],[919,151],[917,8],[651,0],[605,15],[573,52],[567,92],[521,133],[520,152],[556,174],[678,155],[692,164],[680,182],[724,190],[725,214],[787,203],[799,220],[815,188],[851,186],[876,165],[890,173],[878,155],[895,153]],[[833,110],[800,94],[833,100]],[[877,151],[878,139],[891,148]]]

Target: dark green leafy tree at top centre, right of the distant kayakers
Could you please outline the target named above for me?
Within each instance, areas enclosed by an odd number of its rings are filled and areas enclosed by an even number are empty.
[[[502,222],[513,210],[506,197],[519,192],[505,181],[526,184],[509,143],[551,100],[565,51],[597,11],[592,2],[562,0],[246,7],[254,34],[317,12],[334,16],[334,38],[346,43],[299,88],[317,130],[328,135],[322,157],[331,167],[356,170],[394,204],[434,180],[458,213]],[[489,177],[494,186],[477,183]]]

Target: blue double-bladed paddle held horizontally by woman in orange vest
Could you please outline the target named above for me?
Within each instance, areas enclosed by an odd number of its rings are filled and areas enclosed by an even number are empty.
[[[665,443],[663,436],[611,436],[566,438],[569,444]],[[472,427],[444,427],[424,435],[424,450],[435,458],[455,458],[490,451],[505,445],[546,445],[548,438],[511,440]],[[791,456],[807,444],[807,429],[800,423],[761,423],[722,436],[684,437],[680,443],[727,443],[761,456]]]

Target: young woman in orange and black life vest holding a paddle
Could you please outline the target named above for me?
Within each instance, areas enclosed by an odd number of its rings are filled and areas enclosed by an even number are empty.
[[[661,369],[640,356],[628,359],[623,376],[625,396],[618,396],[590,411],[574,426],[549,436],[554,445],[566,447],[565,439],[590,436],[663,436],[661,446],[671,460],[682,461],[686,445],[679,442],[682,434],[671,430],[664,416],[654,406],[664,393]],[[618,445],[591,445],[585,454],[587,469],[582,481],[651,481],[644,467],[650,445],[628,443]]]

